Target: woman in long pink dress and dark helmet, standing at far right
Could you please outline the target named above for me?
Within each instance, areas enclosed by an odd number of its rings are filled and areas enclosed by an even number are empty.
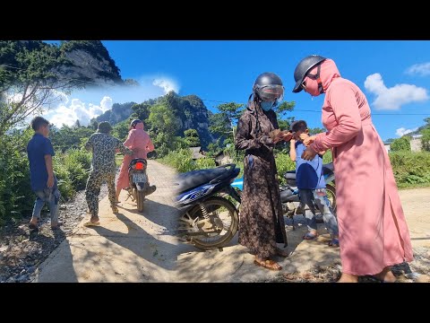
[[[325,94],[326,133],[311,137],[302,158],[331,149],[336,172],[340,283],[357,283],[360,275],[394,282],[390,266],[412,261],[408,224],[400,204],[391,162],[376,132],[366,96],[340,77],[335,63],[305,57],[294,72],[293,92]]]

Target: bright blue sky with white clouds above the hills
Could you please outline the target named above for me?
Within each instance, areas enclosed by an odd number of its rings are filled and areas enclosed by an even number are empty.
[[[51,40],[55,41],[55,40]],[[51,42],[48,41],[48,42]],[[139,88],[109,87],[73,92],[45,115],[57,126],[76,118],[89,122],[113,103],[156,98],[170,90],[195,94],[217,112],[221,102],[245,103],[255,78],[280,75],[284,100],[296,102],[287,117],[323,127],[323,95],[293,93],[294,69],[308,55],[334,60],[342,77],[366,94],[374,126],[383,140],[398,138],[430,117],[430,41],[428,40],[102,40],[123,79]]]

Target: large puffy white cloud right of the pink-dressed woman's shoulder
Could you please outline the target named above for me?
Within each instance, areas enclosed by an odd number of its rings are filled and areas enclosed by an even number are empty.
[[[367,76],[365,87],[367,91],[376,95],[373,102],[376,109],[400,109],[402,105],[410,102],[428,100],[426,89],[417,85],[396,84],[387,88],[379,73]]]

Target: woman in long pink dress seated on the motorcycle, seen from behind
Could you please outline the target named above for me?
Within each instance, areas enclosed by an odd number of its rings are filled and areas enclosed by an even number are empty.
[[[135,129],[130,130],[127,140],[124,145],[133,150],[133,155],[125,155],[121,170],[119,170],[118,179],[116,180],[116,188],[128,188],[128,165],[134,158],[147,159],[147,153],[154,150],[154,144],[148,135],[143,130],[143,123],[138,123]]]

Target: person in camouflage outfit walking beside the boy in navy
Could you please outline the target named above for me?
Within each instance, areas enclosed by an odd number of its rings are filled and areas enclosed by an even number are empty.
[[[90,135],[87,144],[85,144],[85,149],[92,151],[90,177],[85,191],[91,220],[86,225],[99,224],[99,194],[103,181],[107,182],[112,212],[118,212],[115,204],[116,150],[130,155],[133,154],[133,151],[125,147],[119,139],[109,135],[111,130],[112,127],[107,121],[100,122],[97,133]]]

